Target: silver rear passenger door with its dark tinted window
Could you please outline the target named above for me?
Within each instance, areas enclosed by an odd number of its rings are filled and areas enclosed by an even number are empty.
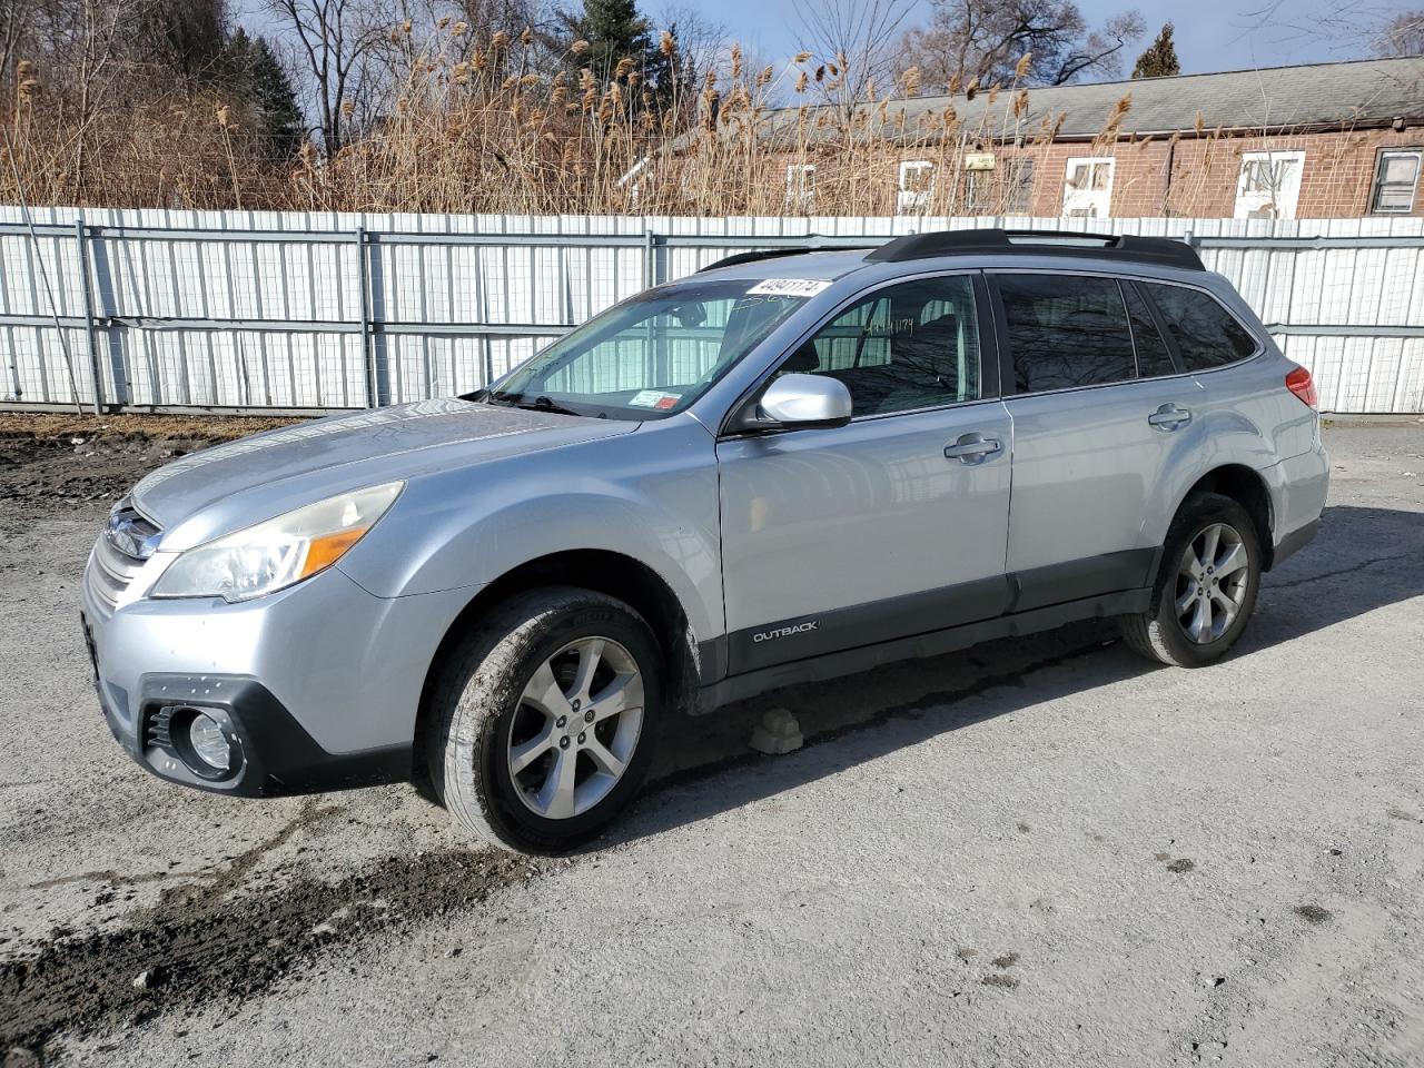
[[[1014,420],[1014,611],[1146,585],[1149,510],[1193,394],[1136,283],[991,272]],[[1185,431],[1185,433],[1183,433]]]

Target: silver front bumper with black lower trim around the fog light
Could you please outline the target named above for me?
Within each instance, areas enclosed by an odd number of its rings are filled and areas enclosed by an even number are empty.
[[[244,604],[114,607],[98,588],[83,584],[83,624],[114,738],[154,775],[242,796],[409,779],[426,675],[474,592],[379,598],[339,568]],[[194,772],[167,731],[174,709],[212,712],[231,775]]]

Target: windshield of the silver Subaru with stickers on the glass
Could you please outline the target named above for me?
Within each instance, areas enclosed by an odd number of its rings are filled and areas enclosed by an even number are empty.
[[[602,419],[682,412],[806,302],[753,279],[665,286],[590,319],[476,399]]]

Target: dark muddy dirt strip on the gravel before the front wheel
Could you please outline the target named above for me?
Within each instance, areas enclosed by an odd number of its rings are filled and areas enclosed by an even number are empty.
[[[235,860],[242,869],[245,857]],[[468,909],[545,867],[494,850],[439,852],[386,857],[332,883],[276,869],[241,896],[221,893],[231,877],[165,894],[117,931],[58,931],[37,953],[0,961],[0,1049],[43,1055],[64,1031],[107,1034],[259,995],[323,946]]]

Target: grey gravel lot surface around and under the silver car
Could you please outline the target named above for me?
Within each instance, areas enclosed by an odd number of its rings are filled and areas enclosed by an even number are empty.
[[[77,584],[181,430],[0,427],[7,1068],[1424,1064],[1424,424],[1327,430],[1323,533],[1230,659],[1087,624],[778,695],[790,756],[745,749],[770,699],[679,722],[567,860],[120,752]]]

